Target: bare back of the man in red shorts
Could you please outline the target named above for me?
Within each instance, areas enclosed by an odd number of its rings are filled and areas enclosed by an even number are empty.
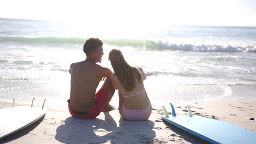
[[[100,65],[83,61],[72,63],[71,73],[71,107],[77,112],[89,112],[95,101],[95,93],[98,83],[103,78]]]

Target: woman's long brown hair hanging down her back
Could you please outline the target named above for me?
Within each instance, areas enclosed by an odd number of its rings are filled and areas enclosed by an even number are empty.
[[[125,61],[123,53],[120,50],[111,50],[108,59],[114,69],[115,75],[117,75],[118,80],[126,92],[130,92],[135,88],[135,77],[139,82],[142,82],[139,70]]]

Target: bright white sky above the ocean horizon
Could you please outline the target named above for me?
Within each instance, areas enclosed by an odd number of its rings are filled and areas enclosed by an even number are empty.
[[[1,0],[0,17],[96,26],[256,26],[254,0]]]

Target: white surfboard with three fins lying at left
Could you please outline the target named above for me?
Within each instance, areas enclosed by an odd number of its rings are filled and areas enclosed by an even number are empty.
[[[15,100],[15,99],[14,99]],[[0,110],[0,140],[3,137],[15,133],[18,130],[26,128],[28,125],[38,121],[45,115],[46,108],[43,106],[14,106]]]

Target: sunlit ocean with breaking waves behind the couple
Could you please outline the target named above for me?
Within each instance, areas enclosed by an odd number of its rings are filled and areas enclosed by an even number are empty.
[[[152,103],[256,99],[256,27],[91,27],[86,24],[0,19],[0,100],[66,109],[69,65],[84,61],[85,40],[102,39],[102,67],[120,49],[143,68]],[[102,85],[100,83],[99,87]],[[118,105],[118,94],[112,101]]]

